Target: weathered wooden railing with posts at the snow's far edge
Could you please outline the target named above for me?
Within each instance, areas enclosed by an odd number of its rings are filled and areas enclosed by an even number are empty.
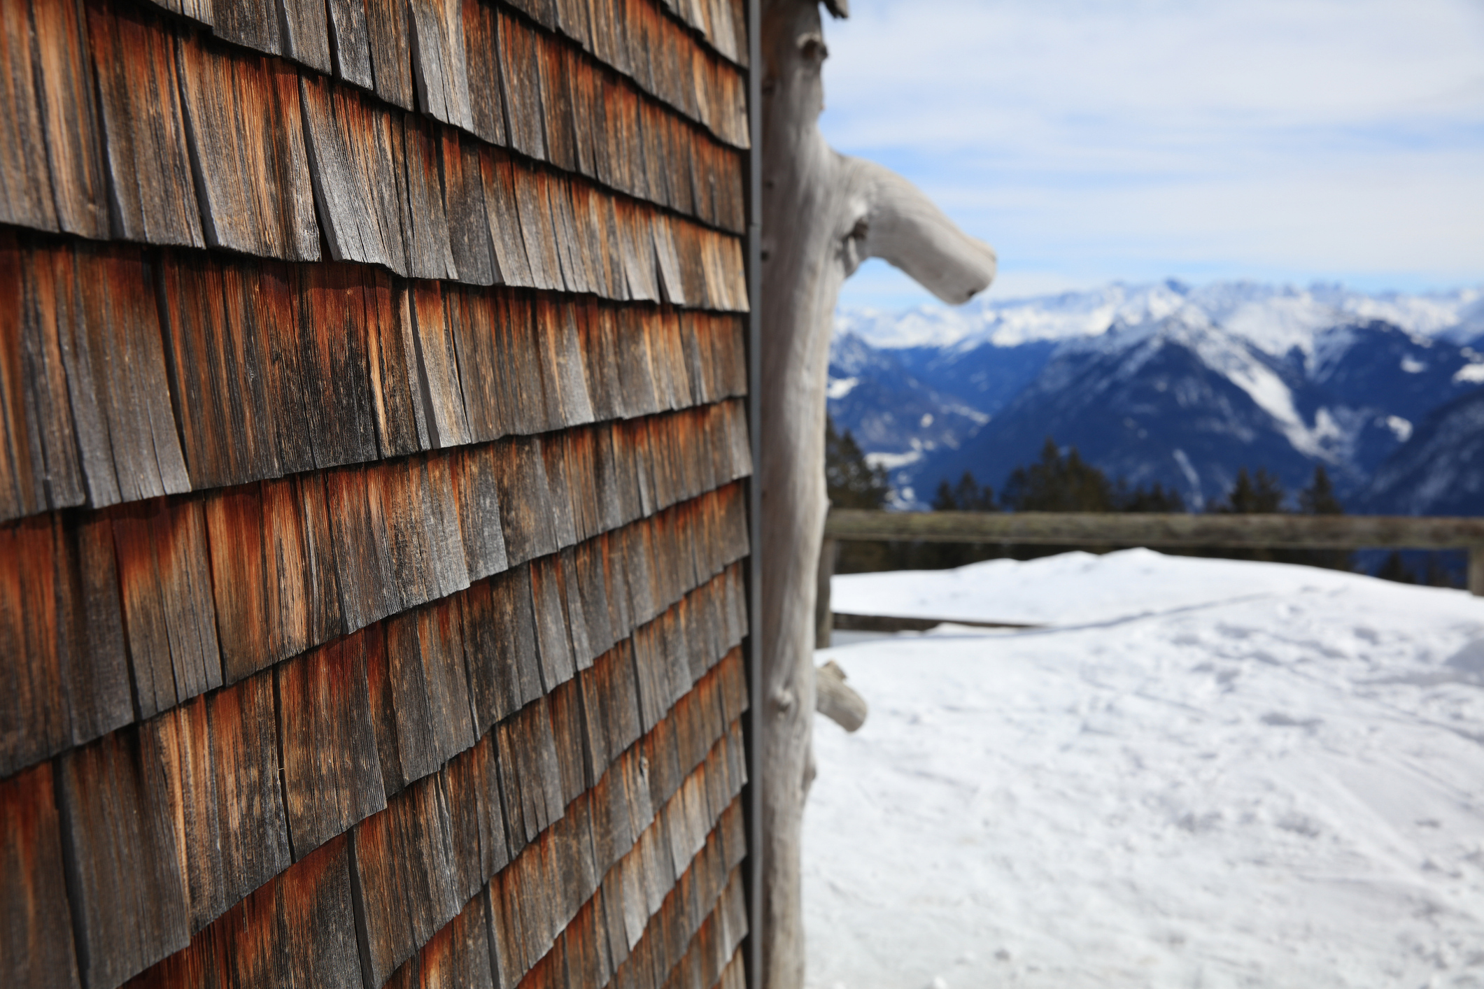
[[[1404,515],[1159,515],[1146,512],[867,512],[833,509],[819,555],[818,639],[828,644],[837,540],[1217,549],[1465,549],[1484,596],[1484,517]]]

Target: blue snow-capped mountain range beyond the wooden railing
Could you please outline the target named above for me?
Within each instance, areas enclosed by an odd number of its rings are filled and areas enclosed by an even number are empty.
[[[1484,494],[1484,449],[1451,451],[1459,436],[1484,446],[1484,403],[1469,405],[1481,351],[1480,289],[1169,280],[843,308],[830,412],[892,470],[904,506],[965,470],[1000,488],[1049,434],[1113,476],[1174,485],[1192,507],[1244,466],[1297,489],[1324,464],[1355,509],[1478,513],[1484,501],[1454,492]]]

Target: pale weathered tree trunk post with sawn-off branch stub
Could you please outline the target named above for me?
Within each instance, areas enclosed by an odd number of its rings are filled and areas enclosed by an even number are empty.
[[[846,16],[847,0],[830,0]],[[815,575],[825,522],[825,378],[840,285],[884,258],[950,304],[994,279],[994,251],[922,191],[819,133],[818,0],[763,0],[761,802],[766,989],[804,983],[800,830],[813,780]]]

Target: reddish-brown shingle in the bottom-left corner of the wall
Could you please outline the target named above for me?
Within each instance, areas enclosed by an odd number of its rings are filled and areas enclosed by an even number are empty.
[[[52,765],[0,781],[0,974],[16,989],[76,989]]]

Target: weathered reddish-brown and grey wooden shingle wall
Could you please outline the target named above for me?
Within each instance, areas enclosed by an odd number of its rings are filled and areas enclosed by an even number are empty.
[[[0,985],[742,988],[745,22],[0,4]]]

